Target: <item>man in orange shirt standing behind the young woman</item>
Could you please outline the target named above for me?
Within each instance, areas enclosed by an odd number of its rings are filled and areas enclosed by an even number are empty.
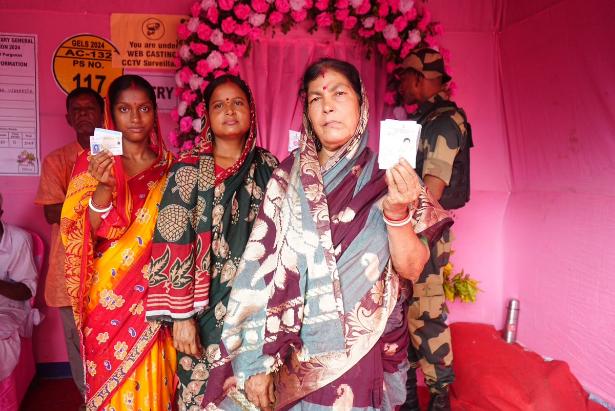
[[[65,249],[60,237],[60,215],[66,198],[68,182],[73,173],[77,155],[90,147],[90,136],[94,128],[101,127],[105,101],[91,88],[80,87],[66,97],[66,122],[76,133],[76,141],[51,152],[42,163],[41,182],[34,202],[42,205],[47,222],[52,225],[49,271],[45,283],[45,300],[49,307],[58,307],[64,335],[68,361],[73,379],[80,393],[85,391],[85,378],[81,357],[81,343],[75,325],[73,310],[64,271]],[[85,409],[84,406],[82,406]]]

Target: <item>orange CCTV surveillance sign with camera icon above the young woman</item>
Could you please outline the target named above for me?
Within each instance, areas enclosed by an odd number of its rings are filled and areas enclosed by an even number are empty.
[[[119,54],[113,66],[130,69],[175,70],[177,25],[184,15],[111,14],[111,41]]]

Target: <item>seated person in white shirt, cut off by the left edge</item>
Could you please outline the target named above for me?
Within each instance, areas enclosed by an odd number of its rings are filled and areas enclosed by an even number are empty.
[[[2,221],[3,213],[0,194],[0,382],[17,366],[20,337],[31,337],[32,326],[41,321],[38,310],[30,306],[37,276],[32,238]]]

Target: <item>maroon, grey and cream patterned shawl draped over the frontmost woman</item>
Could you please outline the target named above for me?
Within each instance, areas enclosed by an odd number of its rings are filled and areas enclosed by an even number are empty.
[[[355,135],[322,167],[304,113],[300,149],[274,171],[240,262],[205,407],[246,406],[240,389],[260,372],[277,373],[276,407],[292,404],[343,375],[383,336],[401,286],[367,112],[363,92]],[[423,190],[412,224],[434,243],[452,220]]]

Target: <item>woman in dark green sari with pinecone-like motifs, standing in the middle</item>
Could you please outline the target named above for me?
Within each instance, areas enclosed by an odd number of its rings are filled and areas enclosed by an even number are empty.
[[[203,96],[201,141],[173,166],[162,198],[146,308],[151,321],[173,322],[180,411],[200,409],[237,265],[277,166],[256,146],[243,80],[218,77]]]

